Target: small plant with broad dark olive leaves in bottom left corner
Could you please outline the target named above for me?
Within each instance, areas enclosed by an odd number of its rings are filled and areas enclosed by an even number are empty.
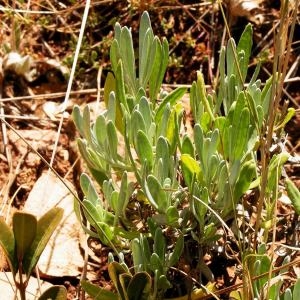
[[[0,219],[0,245],[22,300],[26,299],[26,287],[31,273],[62,216],[61,208],[52,208],[39,220],[32,214],[16,212],[13,215],[12,229]],[[64,287],[53,286],[39,299],[66,299],[66,294]]]

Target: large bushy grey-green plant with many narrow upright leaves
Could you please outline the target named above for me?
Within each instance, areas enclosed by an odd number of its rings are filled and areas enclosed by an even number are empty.
[[[278,183],[288,155],[275,153],[268,160],[262,190],[258,154],[264,147],[276,75],[263,85],[257,79],[258,64],[245,84],[251,47],[252,27],[247,25],[237,45],[230,38],[221,48],[216,91],[208,94],[203,75],[197,73],[190,91],[195,123],[191,134],[183,129],[181,99],[186,89],[170,93],[161,89],[168,43],[154,36],[148,13],[141,17],[138,59],[130,29],[116,24],[110,51],[113,74],[108,75],[104,86],[107,110],[92,122],[89,107],[81,113],[76,106],[73,119],[81,135],[80,153],[101,189],[99,195],[93,180],[82,174],[83,210],[75,203],[78,218],[82,224],[87,219],[92,228],[83,225],[85,231],[111,246],[116,254],[129,249],[133,257],[134,275],[124,267],[121,275],[126,274],[122,275],[125,279],[118,281],[113,275],[123,267],[110,267],[115,285],[122,286],[119,294],[127,293],[127,284],[135,276],[149,275],[153,282],[149,291],[145,280],[149,299],[162,299],[172,285],[170,270],[179,267],[181,258],[192,265],[184,239],[197,245],[199,274],[213,281],[202,257],[204,249],[220,238],[217,230],[221,226],[241,251],[245,280],[248,255],[255,254],[257,265],[260,259],[265,260],[256,256],[260,251],[256,241],[252,247],[245,234],[250,226],[240,217],[245,210],[243,196],[248,190],[264,194],[265,213],[258,217],[266,242],[274,225]],[[293,109],[278,114],[273,133],[280,134],[293,114]],[[295,187],[287,185],[298,199]],[[233,221],[234,229],[227,225],[229,221]],[[270,267],[271,261],[267,265]],[[251,268],[251,276],[261,274],[259,268]],[[262,282],[258,282],[260,289],[265,284]],[[101,291],[86,282],[84,286],[95,293]]]

